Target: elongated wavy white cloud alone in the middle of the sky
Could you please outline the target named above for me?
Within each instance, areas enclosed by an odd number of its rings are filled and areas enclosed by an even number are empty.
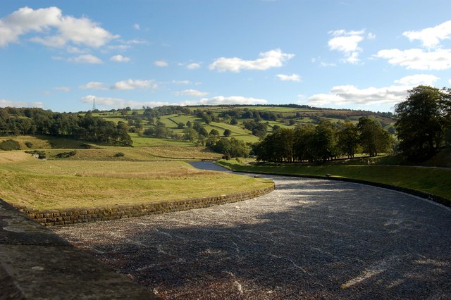
[[[267,52],[260,52],[259,57],[254,61],[245,61],[241,58],[225,58],[216,59],[214,63],[209,65],[210,70],[218,70],[219,72],[240,72],[240,70],[267,70],[269,68],[279,68],[283,64],[293,58],[295,54],[283,53],[280,49]]]

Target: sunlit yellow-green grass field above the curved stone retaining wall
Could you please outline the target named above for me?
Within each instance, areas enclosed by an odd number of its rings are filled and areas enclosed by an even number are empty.
[[[11,204],[57,209],[175,201],[271,182],[197,170],[182,161],[41,161],[10,151],[0,152],[0,185],[0,198]]]

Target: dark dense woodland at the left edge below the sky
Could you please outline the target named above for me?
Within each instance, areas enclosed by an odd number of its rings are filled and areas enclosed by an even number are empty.
[[[54,113],[42,108],[0,108],[0,135],[51,135],[131,146],[126,130],[90,112]]]

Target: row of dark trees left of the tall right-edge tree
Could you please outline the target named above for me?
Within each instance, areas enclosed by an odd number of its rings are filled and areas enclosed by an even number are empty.
[[[359,152],[376,156],[391,145],[390,134],[371,118],[362,117],[357,125],[324,119],[316,126],[280,128],[255,145],[254,154],[258,161],[318,162],[340,156],[353,158]]]

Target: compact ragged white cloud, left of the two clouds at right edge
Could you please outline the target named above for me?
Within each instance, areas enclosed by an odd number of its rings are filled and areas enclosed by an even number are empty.
[[[342,61],[345,63],[359,63],[359,53],[362,52],[359,43],[365,39],[365,30],[334,30],[329,34],[333,36],[328,42],[330,50],[342,52],[345,55]],[[366,38],[374,39],[375,36],[369,33]]]

